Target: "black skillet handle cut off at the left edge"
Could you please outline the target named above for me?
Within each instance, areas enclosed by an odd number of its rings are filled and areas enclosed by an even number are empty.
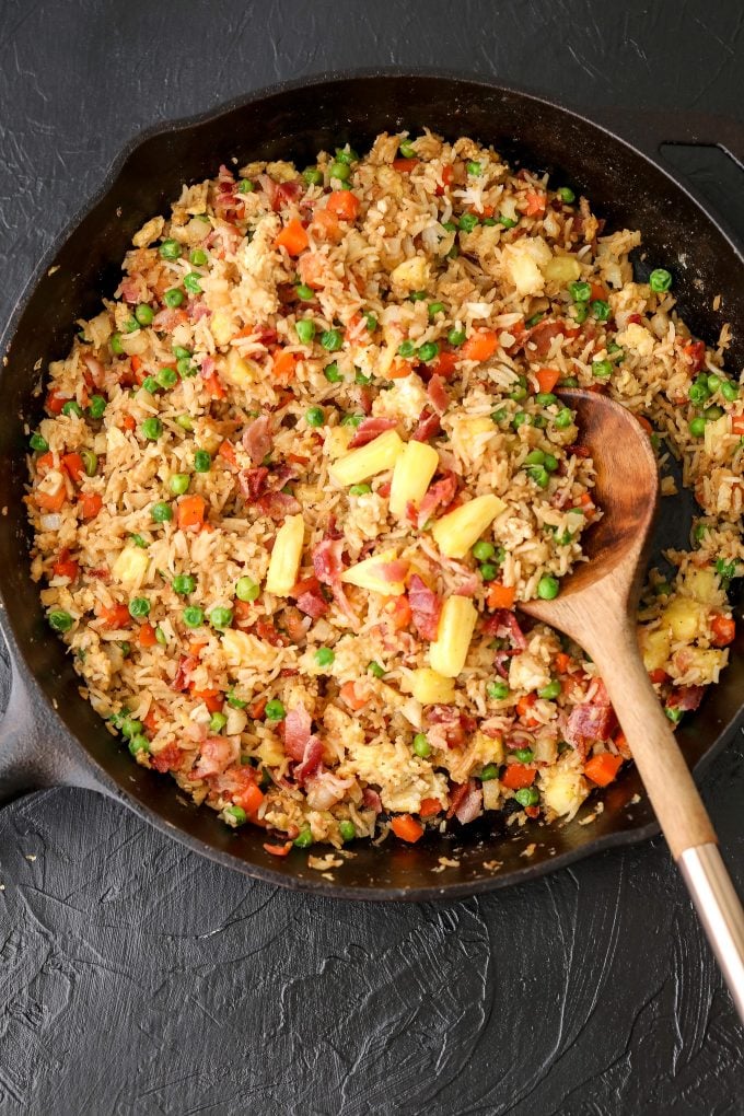
[[[12,657],[8,675],[10,696],[0,721],[0,806],[45,787],[65,785],[100,790],[90,772],[76,760],[60,722],[35,700]]]

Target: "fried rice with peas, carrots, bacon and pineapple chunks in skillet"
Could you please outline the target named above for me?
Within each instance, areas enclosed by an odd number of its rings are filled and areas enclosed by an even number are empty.
[[[639,613],[695,709],[734,637],[744,401],[639,244],[428,132],[222,166],[147,221],[29,431],[32,576],[112,747],[278,855],[572,817],[630,753],[581,648],[515,610],[601,514],[561,386],[695,492]]]

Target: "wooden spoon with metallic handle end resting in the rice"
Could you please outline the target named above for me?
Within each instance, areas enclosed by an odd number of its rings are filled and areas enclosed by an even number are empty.
[[[744,1020],[744,912],[638,648],[636,614],[658,506],[654,451],[638,420],[618,403],[592,392],[561,395],[576,410],[582,441],[591,451],[602,518],[583,539],[589,561],[562,580],[560,596],[520,607],[576,639],[597,664]]]

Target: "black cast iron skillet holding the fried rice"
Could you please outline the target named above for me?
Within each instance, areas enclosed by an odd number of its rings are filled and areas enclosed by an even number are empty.
[[[731,122],[699,117],[687,118],[683,133],[671,135],[666,118],[624,114],[617,123],[651,157],[611,131],[513,88],[434,73],[375,71],[260,90],[152,132],[125,153],[94,202],[39,267],[4,335],[0,591],[12,692],[0,737],[0,797],[8,800],[54,783],[94,788],[221,864],[274,884],[347,898],[422,899],[489,891],[657,831],[642,793],[636,801],[641,788],[630,770],[609,789],[603,812],[588,826],[580,820],[591,812],[591,802],[568,826],[535,825],[518,835],[510,830],[504,840],[494,839],[499,822],[487,822],[480,829],[428,837],[414,847],[395,840],[379,848],[359,843],[352,846],[355,857],[334,870],[332,881],[309,868],[300,850],[286,859],[270,856],[262,848],[261,830],[230,830],[211,810],[187,802],[171,779],[135,764],[79,696],[70,658],[50,634],[29,577],[22,503],[25,423],[33,426],[41,411],[38,369],[67,353],[75,319],[96,312],[102,294],[115,289],[132,234],[147,218],[166,212],[184,181],[211,176],[233,156],[239,165],[260,157],[292,158],[305,166],[320,148],[349,141],[364,151],[380,131],[407,127],[416,133],[425,125],[448,138],[465,134],[493,143],[513,163],[550,171],[553,183],[586,193],[611,229],[641,229],[648,262],[639,267],[671,268],[682,311],[699,336],[715,340],[725,320],[736,327],[744,321],[741,248],[689,187],[653,156],[663,141],[684,140],[718,144],[744,164],[744,133]],[[671,124],[678,127],[679,122]],[[712,309],[715,294],[723,296],[717,314]],[[742,364],[740,330],[729,366],[737,371]],[[679,507],[678,500],[666,502],[663,532],[684,545]],[[740,636],[722,684],[679,733],[696,773],[736,727],[744,698],[743,653]],[[458,866],[442,869],[443,856],[458,860]]]

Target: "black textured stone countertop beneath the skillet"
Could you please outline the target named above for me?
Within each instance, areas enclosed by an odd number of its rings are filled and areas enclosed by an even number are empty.
[[[733,0],[0,0],[0,320],[156,122],[392,64],[741,118],[743,23]],[[719,205],[742,194],[724,163],[687,163]],[[740,889],[743,791],[740,734],[705,779]],[[660,840],[477,899],[350,904],[57,789],[0,812],[0,865],[2,1114],[744,1112],[743,1031]]]

